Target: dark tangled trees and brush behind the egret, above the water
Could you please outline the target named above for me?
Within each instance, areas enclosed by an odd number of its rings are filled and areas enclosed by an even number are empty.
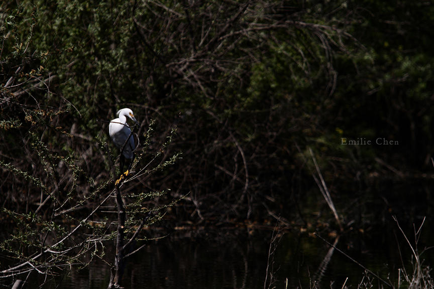
[[[0,221],[22,226],[2,233],[8,256],[40,245],[35,228],[55,242],[110,190],[107,121],[123,107],[141,123],[138,168],[158,168],[124,192],[164,211],[156,226],[338,230],[311,197],[313,156],[332,198],[350,200],[344,229],[432,212],[411,191],[434,176],[431,1],[18,3],[0,8]],[[367,191],[395,186],[408,194],[369,211]]]

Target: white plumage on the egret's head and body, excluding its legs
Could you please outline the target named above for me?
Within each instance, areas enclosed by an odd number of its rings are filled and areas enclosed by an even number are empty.
[[[123,108],[119,110],[116,115],[118,115],[118,118],[110,121],[110,125],[108,125],[108,132],[110,133],[110,136],[112,137],[116,147],[121,150],[124,148],[122,155],[126,159],[133,159],[134,150],[137,147],[137,143],[135,143],[134,136],[131,135],[131,129],[127,124],[127,116],[135,123],[137,123],[137,120],[134,117],[133,111],[129,108]],[[128,142],[125,144],[127,139]]]

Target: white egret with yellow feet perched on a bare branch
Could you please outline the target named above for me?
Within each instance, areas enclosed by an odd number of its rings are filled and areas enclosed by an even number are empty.
[[[118,118],[111,120],[110,125],[108,125],[108,133],[110,137],[112,137],[115,146],[121,150],[121,172],[124,171],[125,159],[129,161],[128,170],[123,173],[121,178],[115,183],[118,185],[124,176],[128,176],[130,172],[134,160],[134,150],[139,145],[139,140],[137,135],[131,131],[130,126],[127,124],[127,117],[134,121],[134,125],[138,123],[134,117],[133,111],[130,108],[123,108],[119,110],[116,115]]]

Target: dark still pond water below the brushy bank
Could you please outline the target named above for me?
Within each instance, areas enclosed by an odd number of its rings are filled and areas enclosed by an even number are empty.
[[[301,208],[296,220],[305,223],[303,230],[289,228],[280,232],[275,242],[273,226],[261,229],[201,228],[169,232],[165,238],[146,241],[147,246],[128,259],[123,278],[125,288],[350,288],[368,279],[365,269],[347,256],[331,250],[329,244],[313,235],[316,232],[331,243],[336,240],[333,215],[319,194],[311,193],[299,200]],[[412,251],[392,216],[396,216],[408,241],[415,245],[414,232],[423,221],[419,253],[434,245],[430,187],[379,188],[370,195],[335,195],[336,207],[343,217],[345,231],[336,247],[357,262],[397,284],[398,269],[413,270]],[[356,200],[356,201],[354,201]],[[307,204],[309,203],[309,204]],[[277,222],[276,222],[277,223]],[[414,224],[414,227],[413,227]],[[149,237],[164,233],[147,232]],[[139,244],[138,244],[139,245]],[[113,243],[106,244],[106,260],[94,260],[84,269],[71,270],[56,278],[47,287],[106,288],[110,277]],[[415,248],[415,246],[414,246]],[[434,250],[421,254],[424,265],[434,262]],[[268,272],[268,274],[267,274]],[[382,284],[372,274],[371,283]],[[267,280],[266,280],[267,278]],[[347,279],[348,278],[348,279]],[[402,280],[402,275],[401,275]],[[33,276],[32,283],[43,282]],[[271,282],[271,285],[270,285]],[[2,284],[0,284],[2,285]],[[1,286],[7,287],[7,286]],[[385,288],[387,286],[384,286]],[[401,286],[401,287],[405,287]]]

